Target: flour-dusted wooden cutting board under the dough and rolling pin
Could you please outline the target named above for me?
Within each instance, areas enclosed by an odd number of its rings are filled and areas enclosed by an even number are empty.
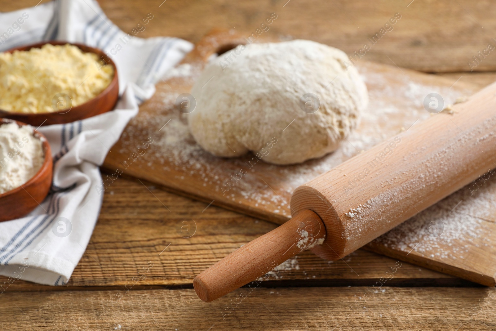
[[[360,59],[355,66],[367,84],[370,103],[360,126],[340,149],[291,166],[253,162],[253,155],[219,158],[195,143],[187,128],[187,115],[179,111],[176,102],[180,94],[190,91],[211,56],[241,43],[245,39],[233,31],[212,32],[172,70],[169,79],[157,84],[155,95],[140,107],[105,160],[103,166],[111,172],[103,178],[106,187],[111,187],[121,174],[130,175],[206,203],[281,224],[290,219],[289,199],[299,185],[434,116],[423,106],[428,94],[438,93],[449,105],[476,91],[461,81]],[[242,170],[247,173],[237,176]],[[488,173],[477,184],[438,202],[365,248],[494,286],[495,177]]]

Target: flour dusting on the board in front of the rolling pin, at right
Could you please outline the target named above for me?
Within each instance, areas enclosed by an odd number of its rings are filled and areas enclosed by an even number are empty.
[[[415,250],[438,260],[464,260],[472,244],[494,250],[494,238],[486,236],[485,227],[487,222],[495,222],[496,178],[480,183],[477,190],[474,184],[464,187],[374,242],[403,252]]]

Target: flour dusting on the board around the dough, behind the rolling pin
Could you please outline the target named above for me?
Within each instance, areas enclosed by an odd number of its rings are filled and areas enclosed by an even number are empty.
[[[153,98],[142,107],[146,111],[142,109],[131,120],[121,137],[119,152],[125,159],[141,140],[152,137],[154,142],[146,156],[147,171],[167,174],[177,188],[189,193],[215,192],[220,197],[215,203],[254,206],[270,215],[280,215],[281,219],[290,218],[289,201],[298,186],[385,138],[407,130],[416,121],[432,116],[422,105],[428,93],[437,92],[445,103],[454,103],[457,97],[472,92],[457,90],[457,86],[450,89],[449,86],[414,84],[406,76],[398,77],[396,71],[379,74],[371,66],[367,63],[357,65],[368,85],[370,98],[361,124],[337,151],[320,159],[276,166],[251,154],[226,159],[205,152],[189,133],[186,115],[175,107],[178,95],[189,92],[189,86],[201,70],[200,66],[185,64],[170,72],[174,84],[159,85]]]

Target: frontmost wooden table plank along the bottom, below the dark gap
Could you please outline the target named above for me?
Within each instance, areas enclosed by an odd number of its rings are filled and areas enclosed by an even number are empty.
[[[246,297],[240,299],[241,293]],[[246,288],[8,293],[4,330],[495,330],[494,288]],[[311,299],[310,299],[311,298]],[[310,299],[310,300],[309,300]],[[226,307],[230,306],[230,310]],[[229,313],[229,314],[228,314]]]

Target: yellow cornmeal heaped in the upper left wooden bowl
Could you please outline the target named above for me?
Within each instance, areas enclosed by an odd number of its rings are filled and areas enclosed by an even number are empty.
[[[105,66],[97,54],[83,53],[74,45],[46,44],[0,53],[0,109],[58,112],[93,99],[113,77],[113,66]]]

